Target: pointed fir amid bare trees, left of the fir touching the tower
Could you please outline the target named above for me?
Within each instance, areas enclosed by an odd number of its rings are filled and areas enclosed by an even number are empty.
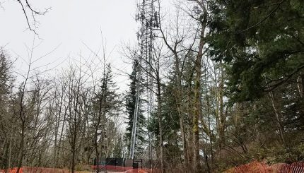
[[[112,128],[113,114],[117,114],[120,109],[121,100],[119,94],[117,93],[117,85],[113,81],[112,69],[110,64],[105,66],[103,71],[103,77],[100,79],[100,88],[98,88],[97,93],[95,93],[95,98],[93,101],[93,128],[94,128],[94,145],[96,157],[100,156],[110,156],[111,148],[107,146],[114,145],[113,143],[109,145],[109,128]],[[117,131],[117,129],[111,129]],[[108,133],[106,133],[108,132]],[[102,150],[99,149],[99,143],[102,143]],[[110,154],[107,155],[106,153]],[[99,161],[98,161],[99,162]]]

